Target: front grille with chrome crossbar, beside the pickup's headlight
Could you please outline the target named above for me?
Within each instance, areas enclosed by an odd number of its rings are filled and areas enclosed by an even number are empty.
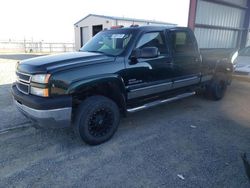
[[[31,75],[21,72],[16,72],[17,89],[24,94],[29,94]]]

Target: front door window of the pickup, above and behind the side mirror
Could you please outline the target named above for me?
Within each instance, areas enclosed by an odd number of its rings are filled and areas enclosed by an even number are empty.
[[[145,33],[140,38],[136,48],[142,49],[144,47],[157,47],[160,54],[167,53],[166,41],[162,32]]]

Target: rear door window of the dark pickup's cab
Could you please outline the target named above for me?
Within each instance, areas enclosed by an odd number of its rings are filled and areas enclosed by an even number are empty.
[[[176,54],[196,51],[189,33],[185,31],[175,31],[172,33],[172,49]]]

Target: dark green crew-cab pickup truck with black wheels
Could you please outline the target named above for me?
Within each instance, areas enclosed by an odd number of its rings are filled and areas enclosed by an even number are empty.
[[[120,115],[194,95],[224,96],[231,57],[202,57],[192,30],[143,26],[98,33],[79,52],[17,64],[14,102],[40,125],[70,125],[88,144],[109,140]]]

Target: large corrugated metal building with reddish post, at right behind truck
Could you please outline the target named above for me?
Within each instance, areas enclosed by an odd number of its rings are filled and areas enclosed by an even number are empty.
[[[250,45],[250,0],[190,0],[188,26],[200,48]]]

